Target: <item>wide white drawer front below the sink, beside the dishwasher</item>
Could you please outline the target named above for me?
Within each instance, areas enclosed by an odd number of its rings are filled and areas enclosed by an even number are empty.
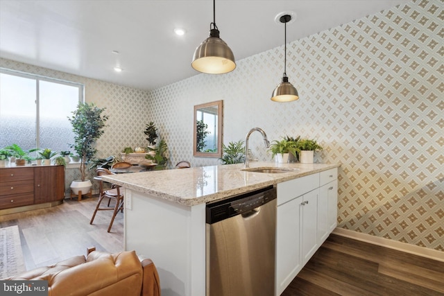
[[[278,183],[278,205],[319,187],[319,173]]]

